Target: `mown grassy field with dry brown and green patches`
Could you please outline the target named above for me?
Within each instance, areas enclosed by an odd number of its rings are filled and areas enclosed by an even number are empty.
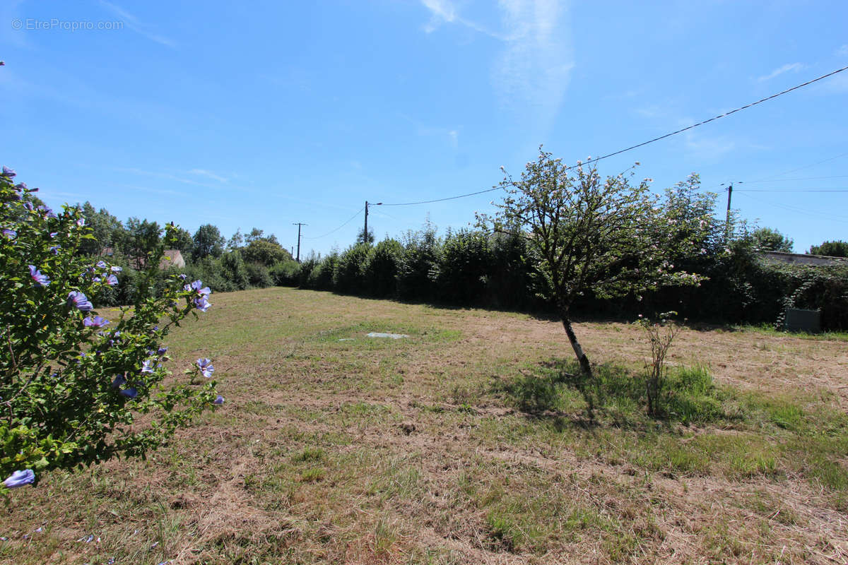
[[[630,324],[576,325],[585,382],[523,314],[211,302],[170,368],[212,357],[226,404],[147,461],[14,491],[0,562],[848,562],[844,339],[683,330],[657,421]]]

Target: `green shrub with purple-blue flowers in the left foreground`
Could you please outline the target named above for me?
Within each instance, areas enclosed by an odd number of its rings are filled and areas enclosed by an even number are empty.
[[[154,294],[163,246],[148,254],[136,303],[111,319],[92,297],[119,285],[120,267],[75,257],[92,238],[77,208],[34,207],[15,174],[0,174],[0,477],[7,488],[39,472],[112,457],[143,457],[177,427],[223,402],[209,359],[189,379],[165,379],[162,340],[209,307],[209,288],[175,277]],[[37,189],[35,189],[37,190]],[[169,244],[176,227],[166,226]],[[140,423],[137,417],[148,415]],[[2,489],[2,487],[0,487]]]

